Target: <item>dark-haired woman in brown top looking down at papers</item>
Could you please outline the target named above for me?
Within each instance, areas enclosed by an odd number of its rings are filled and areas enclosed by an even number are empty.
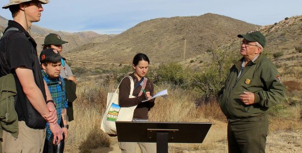
[[[129,74],[134,82],[134,89],[132,96],[130,94],[130,79],[124,78],[119,88],[119,104],[121,107],[136,106],[133,113],[133,122],[148,121],[148,111],[154,106],[155,99],[142,102],[150,99],[154,95],[153,83],[146,78],[149,69],[149,58],[144,53],[137,53],[132,62],[133,73]],[[135,153],[136,145],[140,147],[142,153],[156,153],[156,143],[133,143],[120,142],[120,149],[122,153]]]

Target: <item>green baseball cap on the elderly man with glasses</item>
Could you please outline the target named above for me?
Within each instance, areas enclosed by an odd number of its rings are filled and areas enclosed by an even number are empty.
[[[244,38],[250,42],[258,42],[263,48],[266,43],[265,37],[259,31],[249,31],[245,35],[237,35],[239,38]]]

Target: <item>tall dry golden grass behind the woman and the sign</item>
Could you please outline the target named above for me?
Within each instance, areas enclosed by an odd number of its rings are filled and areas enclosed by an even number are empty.
[[[70,122],[66,153],[120,152],[117,138],[109,137],[100,130],[107,93],[116,88],[116,86],[112,86],[113,84],[112,79],[107,85],[89,80],[79,84],[78,99],[74,103],[75,120]],[[169,96],[167,99],[157,98],[155,106],[150,111],[150,121],[213,123],[202,144],[169,144],[169,153],[227,153],[227,123],[215,100],[197,107],[195,103],[198,102],[199,95],[193,91],[173,88],[170,85],[155,86],[155,89],[156,92],[168,89]],[[297,93],[293,93],[293,95],[301,100]],[[272,138],[268,139],[277,139],[274,136],[278,132],[301,134],[301,132],[297,132],[302,130],[301,114],[302,108],[299,103],[295,105],[284,103],[284,106],[278,107],[275,113],[269,117],[269,137]],[[280,135],[280,137],[285,137],[284,135]],[[293,140],[288,138],[288,141]],[[268,153],[276,151],[269,144],[268,149]]]

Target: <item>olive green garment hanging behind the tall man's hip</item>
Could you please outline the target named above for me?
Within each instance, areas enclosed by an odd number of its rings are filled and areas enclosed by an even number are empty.
[[[2,138],[2,129],[11,133],[14,138],[18,136],[18,115],[14,103],[16,95],[13,75],[0,77],[0,138]]]

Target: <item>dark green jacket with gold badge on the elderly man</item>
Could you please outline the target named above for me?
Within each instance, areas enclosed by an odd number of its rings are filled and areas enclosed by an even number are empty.
[[[231,67],[219,97],[220,108],[228,119],[257,116],[285,98],[285,87],[276,66],[269,59],[260,54],[244,67],[237,79],[242,61],[243,58]],[[244,91],[254,93],[254,104],[245,105],[239,99]]]

